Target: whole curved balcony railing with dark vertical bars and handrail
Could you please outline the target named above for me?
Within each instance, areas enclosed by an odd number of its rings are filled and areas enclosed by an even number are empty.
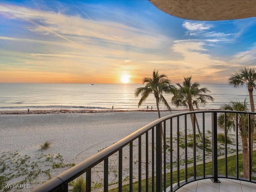
[[[226,127],[222,131],[217,127],[220,114],[224,114]],[[235,130],[228,132],[226,124],[230,114],[235,115]],[[119,192],[124,191],[124,188],[129,189],[130,192],[134,190],[174,192],[190,182],[206,178],[211,178],[213,182],[218,182],[218,178],[232,178],[256,183],[256,177],[253,177],[251,169],[254,165],[252,163],[253,143],[250,139],[248,139],[249,178],[244,178],[240,170],[239,151],[242,150],[242,144],[239,116],[241,114],[246,114],[248,122],[251,122],[256,113],[200,110],[165,116],[80,162],[33,191],[67,192],[69,182],[82,174],[85,174],[86,192],[95,190],[94,183],[99,184],[94,177],[95,174],[102,180],[102,190],[105,192],[110,190],[110,185],[113,183],[117,184]],[[202,132],[202,140],[198,137],[197,124]],[[247,128],[247,138],[250,138],[253,126],[248,123]],[[217,140],[219,132],[224,134],[223,144]],[[232,145],[227,142],[230,136],[233,138]],[[230,152],[235,152],[236,157],[236,164],[232,165],[236,170],[232,174],[228,171],[228,166],[230,166],[228,154]],[[220,155],[223,156],[225,164],[222,174],[218,168],[218,156]],[[207,158],[210,158],[212,162],[210,170],[206,169]],[[201,164],[200,168],[199,164]],[[116,169],[113,166],[116,166]],[[191,166],[193,167],[192,174],[191,171],[188,172]],[[99,170],[100,168],[102,170]],[[113,173],[116,175],[114,180],[111,176]],[[110,177],[111,182],[109,181]],[[127,180],[128,184],[125,184],[124,180]],[[72,189],[72,187],[70,188]]]

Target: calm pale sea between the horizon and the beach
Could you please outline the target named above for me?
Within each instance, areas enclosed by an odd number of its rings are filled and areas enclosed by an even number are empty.
[[[33,109],[114,109],[136,110],[140,98],[134,95],[142,84],[0,84],[0,110]],[[244,101],[247,88],[234,89],[228,84],[207,84],[214,102],[200,109],[218,109],[230,100]],[[172,95],[166,95],[171,105]],[[139,109],[156,109],[154,96],[150,96]],[[166,109],[163,104],[160,109]]]

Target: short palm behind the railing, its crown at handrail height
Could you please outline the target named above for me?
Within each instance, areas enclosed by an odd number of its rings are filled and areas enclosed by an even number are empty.
[[[229,104],[223,104],[222,110],[231,111],[248,111],[248,103],[246,99],[244,102],[234,102],[231,101]],[[243,149],[243,163],[244,163],[244,178],[249,178],[249,151],[248,151],[248,115],[238,114],[238,129],[242,139],[242,149]],[[256,126],[255,120],[251,120],[251,128]],[[220,130],[225,130],[225,115],[224,113],[218,116],[217,125]],[[230,130],[236,130],[236,114],[227,113],[226,119],[227,132]]]

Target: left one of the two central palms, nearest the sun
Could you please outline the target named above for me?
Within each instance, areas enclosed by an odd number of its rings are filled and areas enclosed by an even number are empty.
[[[158,118],[160,118],[160,110],[159,103],[163,102],[165,106],[167,106],[168,110],[170,110],[170,106],[167,100],[164,98],[163,93],[170,94],[174,90],[174,86],[170,85],[170,80],[164,74],[158,74],[158,70],[153,71],[153,77],[145,77],[143,80],[143,84],[146,83],[145,87],[140,87],[135,90],[135,96],[138,97],[141,94],[140,101],[138,103],[138,107],[145,102],[146,98],[150,94],[154,94],[156,99],[156,108],[158,111]],[[163,131],[162,131],[163,134]]]

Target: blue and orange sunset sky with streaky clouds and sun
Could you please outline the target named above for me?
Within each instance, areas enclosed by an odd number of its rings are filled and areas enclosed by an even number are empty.
[[[148,0],[0,1],[0,83],[227,84],[256,63],[256,18],[193,21]]]

